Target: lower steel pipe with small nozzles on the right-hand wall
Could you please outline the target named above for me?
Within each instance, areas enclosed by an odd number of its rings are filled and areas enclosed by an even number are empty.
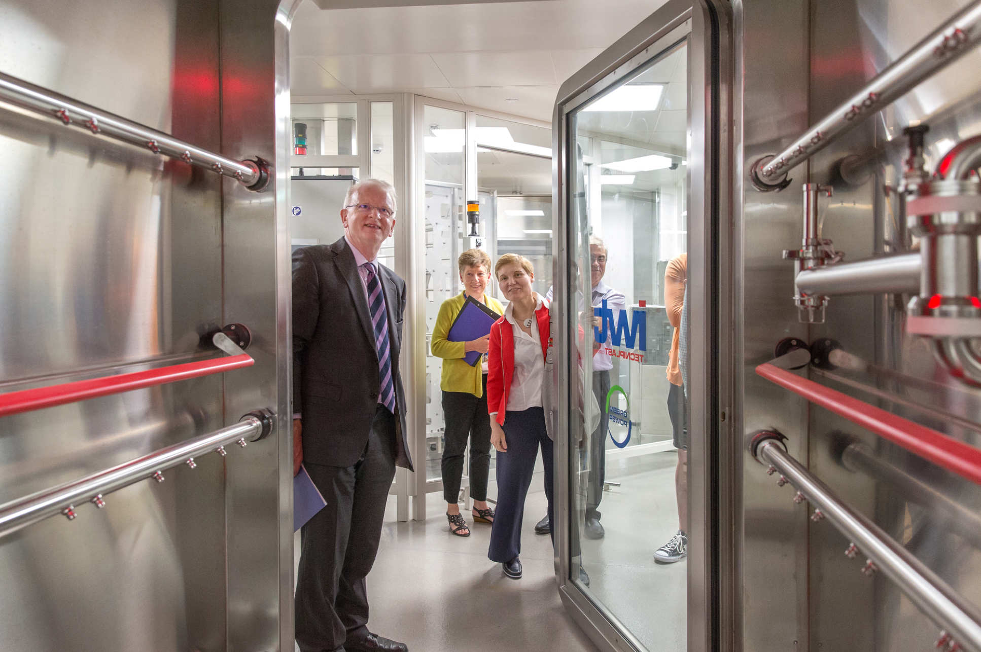
[[[811,521],[827,519],[849,538],[846,556],[853,558],[860,551],[867,557],[863,574],[871,576],[881,571],[895,581],[913,604],[944,628],[943,644],[951,645],[945,649],[981,652],[981,612],[977,607],[882,528],[838,499],[830,487],[787,452],[782,439],[783,435],[776,432],[758,432],[750,441],[750,450],[758,461],[769,465],[770,474],[780,474],[780,486],[790,483],[797,489],[795,502],[807,500],[815,508]]]

